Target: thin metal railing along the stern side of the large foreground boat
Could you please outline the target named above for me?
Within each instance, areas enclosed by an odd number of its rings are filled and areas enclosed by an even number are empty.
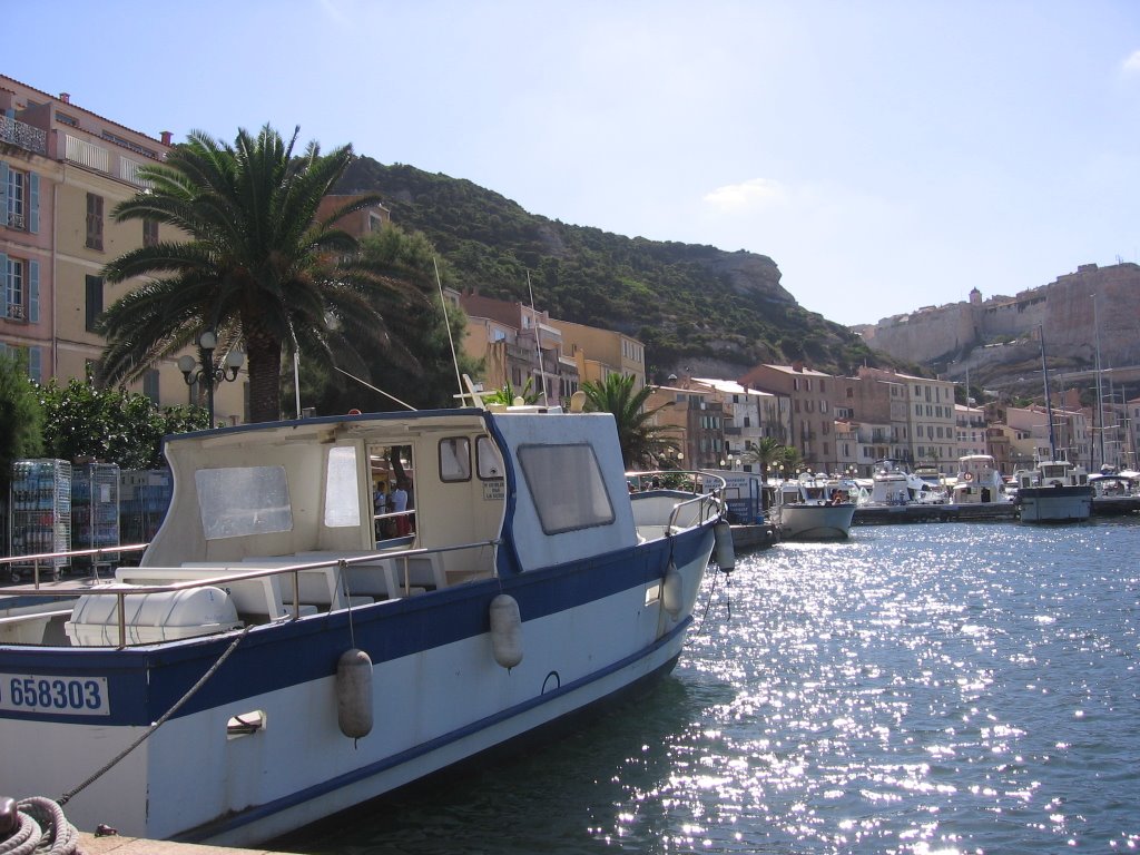
[[[377,561],[394,560],[402,561],[404,565],[404,578],[405,578],[405,589],[408,589],[408,564],[409,561],[416,557],[427,557],[431,559],[435,555],[441,555],[450,552],[461,552],[464,549],[482,549],[487,547],[497,547],[502,542],[497,538],[490,540],[475,540],[466,544],[455,544],[450,546],[435,546],[435,547],[421,547],[414,549],[381,549],[375,552],[364,552],[353,553],[350,555],[335,555],[329,557],[321,557],[314,561],[303,561],[288,564],[275,564],[274,567],[258,565],[255,563],[250,564],[250,570],[243,572],[230,572],[230,569],[235,564],[239,564],[241,560],[234,561],[228,565],[220,565],[217,568],[204,568],[198,565],[194,568],[181,567],[181,568],[162,568],[162,567],[141,567],[132,568],[137,569],[139,576],[145,577],[149,572],[178,572],[178,571],[197,571],[201,573],[205,569],[217,569],[218,573],[204,573],[195,576],[193,579],[180,579],[177,581],[170,581],[168,584],[145,584],[145,585],[119,585],[111,580],[100,581],[95,580],[93,584],[82,585],[82,586],[68,586],[68,587],[42,587],[36,579],[34,586],[21,586],[13,585],[5,588],[0,588],[0,593],[5,596],[50,596],[52,598],[65,598],[65,597],[81,597],[81,596],[113,596],[116,600],[116,620],[119,629],[119,646],[127,646],[127,610],[125,601],[128,596],[139,596],[145,594],[163,594],[174,591],[187,591],[201,587],[222,587],[226,585],[234,585],[236,583],[249,581],[251,579],[262,579],[268,577],[290,577],[292,583],[292,603],[290,604],[291,620],[298,620],[301,617],[301,576],[307,571],[321,570],[328,568],[340,568],[344,569],[353,564],[368,564],[376,563]],[[124,548],[137,549],[146,548],[146,545],[131,546],[131,547],[115,547],[114,549],[107,548],[103,552],[122,552]],[[95,549],[85,549],[78,552],[67,553],[44,553],[38,557],[70,557],[72,555],[91,554],[98,552]],[[19,556],[23,559],[31,556]],[[264,561],[272,561],[272,557],[266,557]]]

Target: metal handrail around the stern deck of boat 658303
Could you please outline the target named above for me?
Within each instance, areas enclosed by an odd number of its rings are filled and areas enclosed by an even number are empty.
[[[462,549],[481,549],[487,546],[498,546],[502,543],[500,539],[494,538],[491,540],[477,540],[469,544],[458,544],[455,546],[435,546],[435,547],[421,547],[417,549],[377,549],[375,552],[365,555],[352,555],[348,557],[333,557],[323,559],[320,561],[308,561],[298,564],[288,564],[285,567],[272,567],[272,568],[256,568],[244,573],[229,573],[226,576],[212,576],[207,579],[187,579],[186,581],[171,583],[170,585],[132,585],[129,588],[120,587],[113,583],[105,583],[103,585],[95,585],[83,588],[52,588],[50,592],[42,589],[39,584],[35,587],[21,587],[14,585],[10,587],[2,588],[3,595],[11,596],[114,596],[116,598],[116,608],[119,610],[119,646],[127,646],[127,597],[137,596],[140,594],[163,594],[172,591],[187,591],[193,588],[206,587],[210,585],[227,585],[235,581],[243,581],[246,579],[260,579],[268,576],[284,576],[286,573],[293,577],[293,614],[292,620],[298,620],[301,617],[301,578],[300,573],[306,570],[318,570],[323,567],[348,567],[349,564],[363,564],[369,561],[375,561],[376,559],[410,559],[420,555],[432,555],[437,553],[447,552],[459,552]],[[142,546],[132,546],[129,548],[144,548]],[[83,551],[87,553],[98,552],[97,549]],[[104,549],[104,552],[111,552],[111,549]],[[70,554],[70,553],[68,553]],[[63,557],[63,553],[56,554],[50,553],[52,557]],[[146,572],[147,569],[160,569],[160,570],[178,570],[180,568],[139,568],[140,572]],[[222,568],[219,568],[222,569]]]

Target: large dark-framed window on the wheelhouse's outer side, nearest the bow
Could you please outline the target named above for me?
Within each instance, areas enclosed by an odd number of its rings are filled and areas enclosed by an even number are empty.
[[[544,534],[613,522],[613,505],[591,446],[520,446],[519,464]]]

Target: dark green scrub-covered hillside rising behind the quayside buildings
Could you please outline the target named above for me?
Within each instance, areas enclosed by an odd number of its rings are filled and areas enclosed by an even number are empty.
[[[529,272],[536,306],[553,317],[640,339],[658,381],[687,366],[738,376],[757,363],[804,360],[837,374],[889,364],[800,308],[764,255],[570,226],[471,181],[368,157],[340,189],[380,194],[393,222],[434,244],[456,287],[529,302]]]

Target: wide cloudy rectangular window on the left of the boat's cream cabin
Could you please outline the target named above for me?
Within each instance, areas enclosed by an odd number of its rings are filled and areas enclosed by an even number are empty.
[[[203,469],[194,473],[194,483],[206,540],[293,528],[284,466]]]

